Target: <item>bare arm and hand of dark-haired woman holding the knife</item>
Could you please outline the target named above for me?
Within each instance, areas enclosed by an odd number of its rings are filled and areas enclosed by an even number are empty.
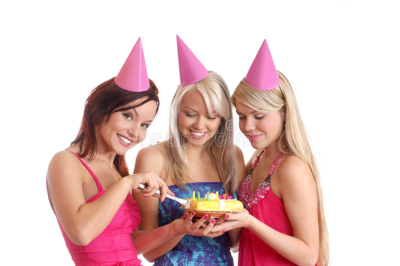
[[[68,238],[76,245],[87,245],[109,224],[131,189],[147,183],[148,194],[165,183],[154,174],[130,175],[120,178],[97,200],[86,203],[83,195],[83,176],[87,170],[67,151],[54,155],[47,171],[47,187],[55,215]],[[164,197],[164,196],[163,196]]]

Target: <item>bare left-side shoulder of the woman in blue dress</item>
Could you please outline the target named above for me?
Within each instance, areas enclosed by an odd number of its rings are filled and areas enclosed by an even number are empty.
[[[166,157],[167,149],[164,142],[145,147],[137,153],[133,173],[153,171],[160,175]]]

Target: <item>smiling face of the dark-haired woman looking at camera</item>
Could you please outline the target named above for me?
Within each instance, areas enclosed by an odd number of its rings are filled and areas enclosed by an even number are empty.
[[[137,105],[142,100],[132,101],[120,108]],[[108,121],[103,121],[99,126],[98,144],[103,144],[106,151],[124,155],[131,147],[143,141],[156,108],[155,101],[148,101],[134,109],[113,112]]]

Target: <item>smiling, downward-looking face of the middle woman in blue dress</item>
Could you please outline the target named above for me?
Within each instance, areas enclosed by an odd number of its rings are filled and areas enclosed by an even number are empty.
[[[198,91],[188,91],[182,98],[178,112],[178,129],[186,145],[204,146],[218,130],[221,117],[214,110],[210,114]]]

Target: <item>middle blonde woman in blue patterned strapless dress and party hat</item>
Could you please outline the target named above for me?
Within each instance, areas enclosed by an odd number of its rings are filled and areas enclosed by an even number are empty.
[[[153,171],[180,198],[201,197],[218,191],[234,195],[237,176],[244,176],[244,160],[233,145],[232,108],[223,79],[207,71],[177,37],[180,85],[170,106],[168,139],[142,149],[134,172]],[[180,204],[134,194],[140,207],[140,230],[181,223],[186,232],[144,253],[154,265],[233,265],[225,231],[210,233],[215,219],[204,216],[192,222]],[[182,222],[184,221],[184,222]],[[206,223],[208,223],[206,225]],[[173,228],[173,227],[171,227]],[[175,235],[172,231],[170,234]]]

